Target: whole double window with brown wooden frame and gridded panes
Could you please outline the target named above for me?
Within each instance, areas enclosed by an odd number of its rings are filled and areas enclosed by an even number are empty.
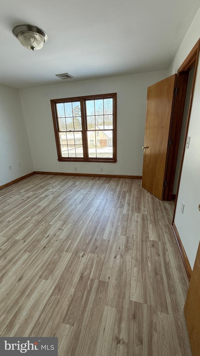
[[[116,162],[117,94],[51,100],[58,161]]]

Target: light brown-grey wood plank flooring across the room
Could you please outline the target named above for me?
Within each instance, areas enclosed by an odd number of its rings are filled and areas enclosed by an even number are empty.
[[[0,336],[58,336],[59,356],[191,356],[173,209],[136,179],[1,190]]]

